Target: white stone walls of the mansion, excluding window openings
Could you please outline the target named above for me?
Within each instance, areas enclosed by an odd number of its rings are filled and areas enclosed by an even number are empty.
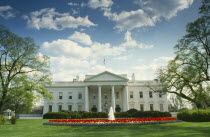
[[[154,110],[160,111],[160,104],[163,104],[162,111],[168,111],[167,94],[159,97],[159,93],[152,92],[153,97],[149,97],[150,88],[148,84],[155,88],[158,88],[158,82],[154,80],[150,81],[128,81],[128,79],[112,74],[110,72],[103,72],[97,75],[88,77],[89,81],[73,81],[73,82],[54,82],[48,91],[53,94],[53,100],[44,101],[44,113],[49,112],[49,105],[52,105],[52,111],[57,112],[58,106],[62,105],[63,110],[68,110],[68,105],[72,105],[72,111],[78,111],[78,105],[81,106],[81,110],[85,110],[85,87],[88,88],[88,102],[90,111],[93,105],[98,108],[98,86],[101,86],[101,106],[102,111],[107,111],[111,106],[111,91],[112,86],[115,90],[115,105],[119,105],[122,111],[125,110],[125,92],[124,87],[128,85],[128,108],[135,108],[140,110],[140,104],[144,105],[144,111],[150,110],[150,104],[153,104]],[[104,80],[105,79],[105,80]],[[104,80],[104,81],[103,81]],[[140,98],[139,92],[143,92],[143,98]],[[63,97],[59,99],[59,93],[62,92]],[[116,93],[119,92],[119,98],[116,98]],[[133,98],[130,98],[130,93],[133,92]],[[69,99],[69,93],[72,95],[72,99]],[[78,99],[78,94],[82,94],[82,99]],[[107,99],[105,99],[105,94]],[[93,98],[95,96],[95,98]],[[107,102],[108,106],[105,107]]]

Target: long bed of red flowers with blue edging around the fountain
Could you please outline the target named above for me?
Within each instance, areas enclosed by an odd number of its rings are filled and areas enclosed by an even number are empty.
[[[181,122],[176,118],[158,117],[158,118],[122,118],[116,120],[108,119],[58,119],[49,120],[44,125],[65,125],[65,126],[111,126],[111,125],[149,125]]]

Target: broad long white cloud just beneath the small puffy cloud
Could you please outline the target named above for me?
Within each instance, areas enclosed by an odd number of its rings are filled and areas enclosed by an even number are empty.
[[[77,41],[79,40],[77,39]],[[68,39],[58,39],[52,42],[44,42],[42,44],[42,50],[51,56],[67,56],[84,59],[118,56],[125,51],[125,48],[122,46],[114,47],[110,43],[102,44],[98,42],[92,42],[90,47],[83,47]]]

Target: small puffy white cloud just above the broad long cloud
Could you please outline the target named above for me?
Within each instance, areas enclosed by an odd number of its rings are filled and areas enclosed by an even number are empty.
[[[72,34],[68,38],[75,41],[75,42],[82,43],[82,44],[85,44],[85,45],[91,45],[92,44],[92,40],[91,40],[90,36],[86,33],[81,33],[81,32],[75,31],[74,34]]]

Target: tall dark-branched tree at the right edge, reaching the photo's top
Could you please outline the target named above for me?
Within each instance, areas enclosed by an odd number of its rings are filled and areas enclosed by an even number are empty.
[[[174,93],[197,108],[210,107],[209,9],[210,3],[203,0],[201,17],[187,25],[187,34],[175,46],[175,59],[158,72],[164,92]]]

